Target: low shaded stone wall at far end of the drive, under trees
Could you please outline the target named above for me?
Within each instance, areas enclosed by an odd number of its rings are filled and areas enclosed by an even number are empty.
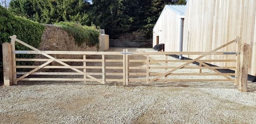
[[[134,41],[134,40],[119,40],[109,39],[109,47],[142,47],[152,48],[152,40]]]

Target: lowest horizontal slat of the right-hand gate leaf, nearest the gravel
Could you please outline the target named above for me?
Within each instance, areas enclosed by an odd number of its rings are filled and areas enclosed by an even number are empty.
[[[129,81],[146,82],[147,79],[129,79]],[[230,82],[228,79],[158,79],[154,82]]]

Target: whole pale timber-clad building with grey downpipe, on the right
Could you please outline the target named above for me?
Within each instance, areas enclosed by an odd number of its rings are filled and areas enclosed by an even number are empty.
[[[250,44],[248,73],[256,76],[255,17],[256,0],[188,0],[187,5],[166,5],[153,29],[153,46],[165,44],[165,51],[211,51],[240,36],[241,44]],[[236,44],[219,51],[236,51]],[[236,56],[208,55],[202,59]],[[234,62],[211,64],[236,66]]]

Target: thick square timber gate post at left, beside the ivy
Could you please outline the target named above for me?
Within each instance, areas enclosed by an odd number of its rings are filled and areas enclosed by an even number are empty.
[[[3,47],[4,86],[13,85],[13,68],[11,60],[11,44],[5,42]]]

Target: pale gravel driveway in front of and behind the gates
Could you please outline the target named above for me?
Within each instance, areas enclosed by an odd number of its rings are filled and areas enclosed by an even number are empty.
[[[122,51],[122,48],[109,51]],[[179,64],[170,63],[168,66]],[[143,63],[136,65],[145,66]],[[198,71],[191,70],[180,69],[178,73]],[[151,71],[161,72],[159,69]],[[203,69],[203,73],[211,72]],[[17,86],[0,87],[0,123],[256,124],[256,83],[248,83],[250,92],[242,93],[232,82],[160,82],[150,85],[133,82],[129,86],[121,83],[19,82]]]

